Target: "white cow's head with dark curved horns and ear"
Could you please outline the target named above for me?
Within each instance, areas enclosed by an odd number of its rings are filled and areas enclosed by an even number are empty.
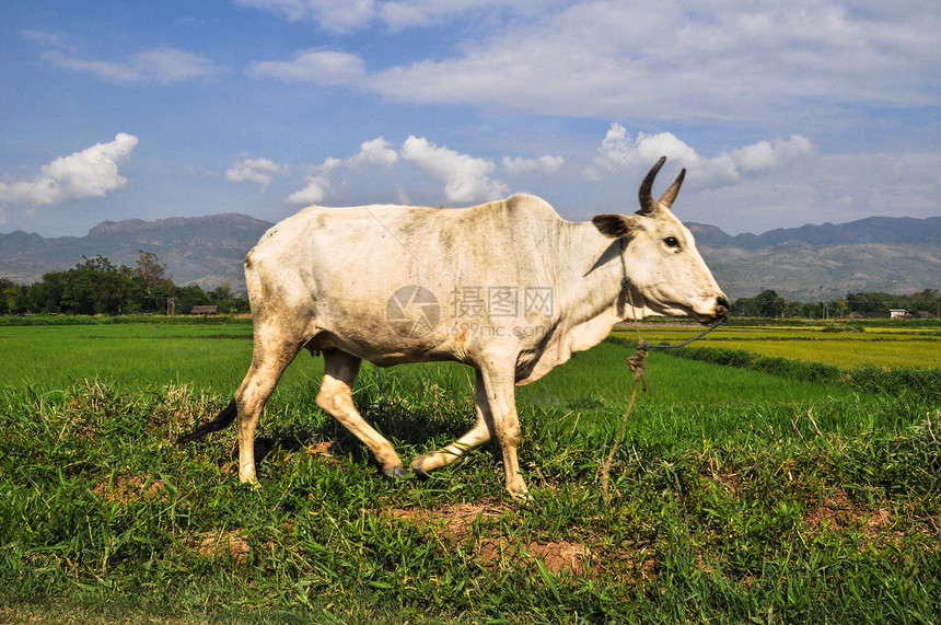
[[[664,162],[666,157],[643,178],[640,210],[627,217],[599,215],[592,222],[602,234],[621,240],[624,270],[631,283],[635,308],[643,314],[688,314],[709,323],[727,314],[729,300],[696,250],[693,233],[670,210],[686,170],[659,200],[651,195],[653,178]]]

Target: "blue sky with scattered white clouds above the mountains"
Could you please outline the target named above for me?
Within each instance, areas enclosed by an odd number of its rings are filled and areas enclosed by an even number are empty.
[[[527,192],[730,233],[941,215],[941,4],[0,4],[0,232]],[[670,180],[666,180],[670,178]]]

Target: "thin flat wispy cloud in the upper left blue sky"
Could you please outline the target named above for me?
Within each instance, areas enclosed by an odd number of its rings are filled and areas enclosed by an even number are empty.
[[[126,62],[81,59],[60,50],[49,50],[43,58],[61,68],[91,73],[112,82],[169,84],[209,78],[222,71],[206,57],[170,47],[136,54]]]

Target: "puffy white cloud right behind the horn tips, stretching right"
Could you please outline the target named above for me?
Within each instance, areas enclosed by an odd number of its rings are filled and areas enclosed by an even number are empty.
[[[695,170],[699,185],[715,187],[735,183],[752,173],[787,167],[813,153],[814,146],[810,139],[792,135],[789,139],[763,140],[707,158],[672,132],[638,132],[637,137],[630,137],[624,126],[612,124],[585,173],[600,180],[621,165],[650,166],[660,157],[666,157]]]

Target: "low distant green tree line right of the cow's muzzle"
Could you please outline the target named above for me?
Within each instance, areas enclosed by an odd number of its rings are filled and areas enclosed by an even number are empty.
[[[795,302],[768,289],[754,298],[735,300],[732,314],[770,319],[888,319],[890,309],[903,309],[913,317],[937,317],[941,309],[941,290],[925,289],[910,296],[859,292],[823,302]]]

